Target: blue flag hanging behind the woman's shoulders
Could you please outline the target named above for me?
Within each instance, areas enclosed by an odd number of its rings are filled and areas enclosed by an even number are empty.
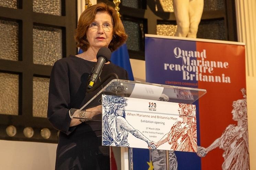
[[[83,50],[79,48],[78,54],[81,54],[81,53],[83,53]],[[110,60],[115,65],[118,65],[127,71],[129,80],[134,80],[134,77],[132,74],[132,67],[130,63],[130,57],[128,54],[126,44],[123,44],[121,47],[113,51]]]

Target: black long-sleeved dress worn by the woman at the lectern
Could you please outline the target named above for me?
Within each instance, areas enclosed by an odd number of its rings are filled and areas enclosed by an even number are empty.
[[[48,120],[60,131],[56,153],[56,170],[109,170],[109,147],[101,146],[101,122],[86,121],[80,125],[69,127],[70,108],[81,108],[111,79],[109,78],[97,90],[86,93],[87,79],[95,62],[70,55],[58,60],[52,69]],[[123,68],[105,64],[101,79],[108,74],[116,73],[120,79],[127,79]],[[99,80],[94,86],[99,84]],[[86,108],[99,105],[92,103]]]

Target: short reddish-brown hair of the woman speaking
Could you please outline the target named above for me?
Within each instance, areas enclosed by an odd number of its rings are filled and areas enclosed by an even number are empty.
[[[80,15],[77,29],[76,29],[76,43],[77,47],[81,48],[83,51],[87,51],[90,44],[86,38],[86,32],[90,26],[90,24],[95,19],[95,15],[97,12],[103,11],[107,12],[113,19],[113,39],[109,44],[109,49],[111,51],[116,50],[120,47],[127,39],[127,34],[124,31],[124,26],[119,18],[117,12],[112,6],[109,6],[105,3],[98,3],[96,5],[92,5],[87,8],[82,14]]]

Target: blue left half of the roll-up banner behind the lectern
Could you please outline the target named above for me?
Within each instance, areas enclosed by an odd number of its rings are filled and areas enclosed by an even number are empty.
[[[186,66],[182,56],[194,55],[195,41],[171,40],[163,38],[145,38],[146,82],[198,88],[198,81],[184,80],[184,71],[191,70]],[[193,54],[192,54],[193,53]],[[198,54],[198,53],[197,53]],[[199,52],[203,55],[203,51]],[[197,60],[197,58],[193,58]],[[193,70],[192,70],[193,71]],[[200,145],[198,101],[197,106],[197,139]],[[196,153],[175,152],[178,170],[201,170],[201,158]]]

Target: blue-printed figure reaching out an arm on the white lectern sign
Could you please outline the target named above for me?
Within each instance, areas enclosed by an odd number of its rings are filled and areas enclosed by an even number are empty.
[[[125,119],[125,106],[127,99],[121,96],[105,95],[102,99],[102,144],[108,146],[129,147],[127,141],[128,132],[136,138],[145,141],[149,148],[156,149],[152,141],[146,138],[140,131],[134,129]]]

